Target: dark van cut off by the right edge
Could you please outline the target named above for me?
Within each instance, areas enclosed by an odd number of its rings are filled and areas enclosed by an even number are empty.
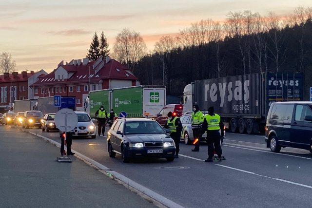
[[[265,141],[273,152],[279,152],[282,147],[312,152],[312,102],[272,103]]]

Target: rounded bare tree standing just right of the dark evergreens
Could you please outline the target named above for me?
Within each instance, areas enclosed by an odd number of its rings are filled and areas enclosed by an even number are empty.
[[[146,45],[139,33],[125,28],[116,37],[114,57],[133,72],[135,62],[145,55]]]

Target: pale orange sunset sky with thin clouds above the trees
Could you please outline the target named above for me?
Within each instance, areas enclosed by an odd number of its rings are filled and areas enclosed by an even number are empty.
[[[201,19],[222,21],[244,10],[287,15],[298,6],[312,0],[0,0],[0,53],[12,55],[16,71],[49,73],[62,60],[84,58],[95,32],[104,32],[112,51],[129,28],[153,51],[161,36]]]

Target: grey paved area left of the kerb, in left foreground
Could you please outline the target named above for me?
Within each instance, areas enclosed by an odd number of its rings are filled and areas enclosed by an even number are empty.
[[[83,161],[58,163],[59,148],[0,126],[0,207],[155,207]]]

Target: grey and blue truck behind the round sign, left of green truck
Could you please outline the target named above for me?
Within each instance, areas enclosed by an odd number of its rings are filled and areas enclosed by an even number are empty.
[[[50,97],[39,97],[36,103],[36,109],[41,111],[43,114],[46,113],[57,113],[60,109],[70,108],[76,109],[76,97],[61,97],[61,107],[54,106],[54,96]]]

